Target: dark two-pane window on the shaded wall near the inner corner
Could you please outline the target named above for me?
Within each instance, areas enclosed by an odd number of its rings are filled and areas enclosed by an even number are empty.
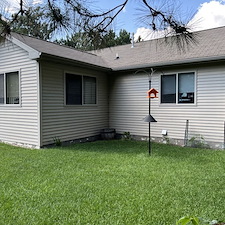
[[[96,78],[67,73],[66,104],[96,104]]]

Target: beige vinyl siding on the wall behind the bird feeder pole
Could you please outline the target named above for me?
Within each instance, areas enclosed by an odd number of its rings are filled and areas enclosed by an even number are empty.
[[[168,138],[184,139],[186,120],[189,120],[189,137],[202,135],[216,147],[223,147],[225,121],[225,66],[189,67],[182,70],[163,70],[164,74],[196,72],[196,103],[160,104],[151,100],[151,115],[157,123],[151,123],[151,136],[162,138],[167,130]],[[155,73],[152,87],[160,92],[160,75]],[[146,74],[117,75],[111,79],[109,118],[110,127],[118,133],[129,131],[133,135],[148,136],[148,77]]]

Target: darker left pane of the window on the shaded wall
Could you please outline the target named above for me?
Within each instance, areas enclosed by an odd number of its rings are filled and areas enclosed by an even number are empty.
[[[74,74],[66,74],[66,104],[82,104],[82,77]]]

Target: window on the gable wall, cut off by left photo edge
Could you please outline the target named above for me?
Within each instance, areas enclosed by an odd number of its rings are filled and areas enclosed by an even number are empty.
[[[0,104],[19,103],[19,72],[0,74]]]

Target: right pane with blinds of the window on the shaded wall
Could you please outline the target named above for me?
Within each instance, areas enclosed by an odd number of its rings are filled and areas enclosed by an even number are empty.
[[[84,104],[96,104],[96,78],[83,77]]]

